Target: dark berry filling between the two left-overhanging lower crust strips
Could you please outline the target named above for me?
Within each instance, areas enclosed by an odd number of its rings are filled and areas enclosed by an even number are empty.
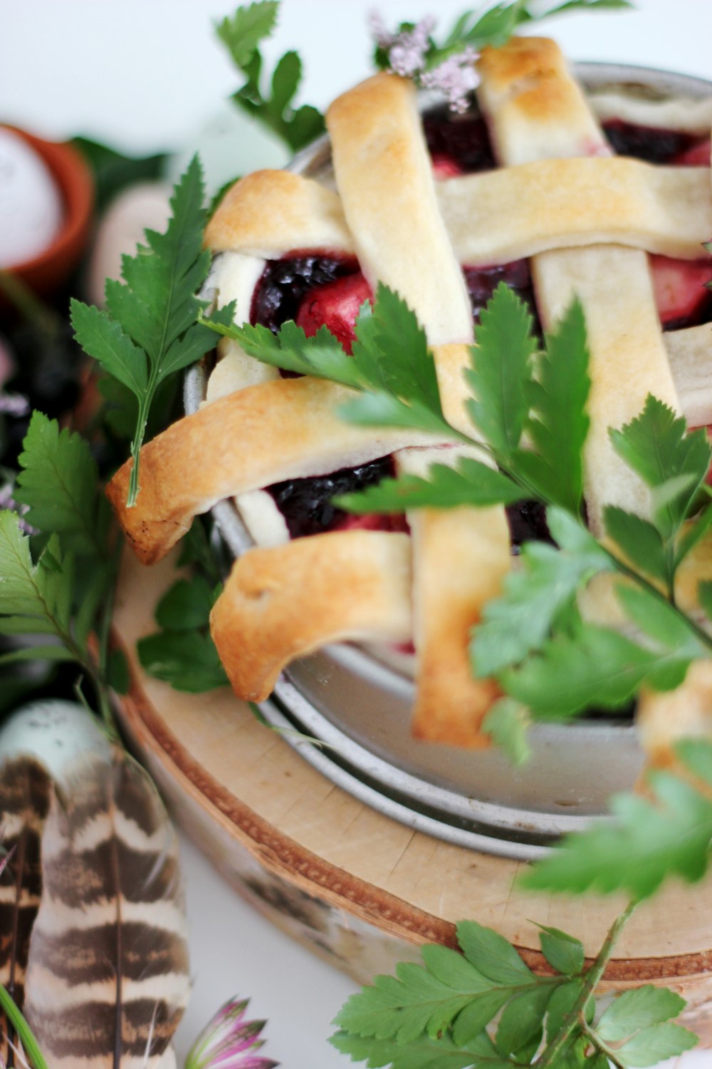
[[[355,468],[342,468],[330,475],[307,479],[287,479],[267,486],[274,503],[284,516],[291,538],[319,534],[323,531],[366,527],[370,530],[404,530],[402,516],[352,516],[332,503],[337,494],[351,494],[375,486],[394,475],[393,458],[382,456]],[[365,522],[368,521],[368,522]]]

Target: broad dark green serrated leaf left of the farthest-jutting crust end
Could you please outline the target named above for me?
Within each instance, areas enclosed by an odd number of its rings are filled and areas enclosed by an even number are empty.
[[[57,420],[34,412],[18,463],[22,470],[16,497],[28,506],[28,522],[46,533],[57,532],[78,552],[102,556],[106,507],[98,497],[98,468],[85,439],[67,429],[60,431]]]

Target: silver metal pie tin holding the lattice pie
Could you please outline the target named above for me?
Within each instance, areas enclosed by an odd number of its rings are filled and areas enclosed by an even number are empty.
[[[575,72],[588,90],[712,96],[712,82],[664,71],[580,63]],[[329,183],[328,138],[288,169]],[[204,365],[188,372],[188,413],[203,401],[206,382]],[[230,555],[253,544],[232,501],[212,515]],[[410,733],[413,696],[412,679],[392,664],[339,645],[292,663],[262,709],[273,725],[318,740],[315,746],[285,733],[306,760],[374,808],[444,840],[515,858],[536,857],[560,835],[605,819],[611,794],[631,789],[643,766],[633,725],[614,717],[534,726],[533,755],[521,768],[494,749],[420,742]]]

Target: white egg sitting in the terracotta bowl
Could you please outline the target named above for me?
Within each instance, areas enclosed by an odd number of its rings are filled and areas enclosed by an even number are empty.
[[[44,159],[19,134],[0,126],[0,267],[16,267],[49,248],[63,214]]]

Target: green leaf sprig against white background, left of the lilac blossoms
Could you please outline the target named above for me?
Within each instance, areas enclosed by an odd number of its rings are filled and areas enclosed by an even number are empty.
[[[218,36],[247,79],[233,95],[235,104],[297,152],[323,134],[325,122],[323,115],[312,105],[292,106],[302,78],[302,63],[297,52],[285,52],[276,63],[269,95],[265,96],[260,89],[263,59],[259,45],[274,30],[279,6],[278,0],[262,0],[238,7],[234,15],[224,18],[218,26]]]

